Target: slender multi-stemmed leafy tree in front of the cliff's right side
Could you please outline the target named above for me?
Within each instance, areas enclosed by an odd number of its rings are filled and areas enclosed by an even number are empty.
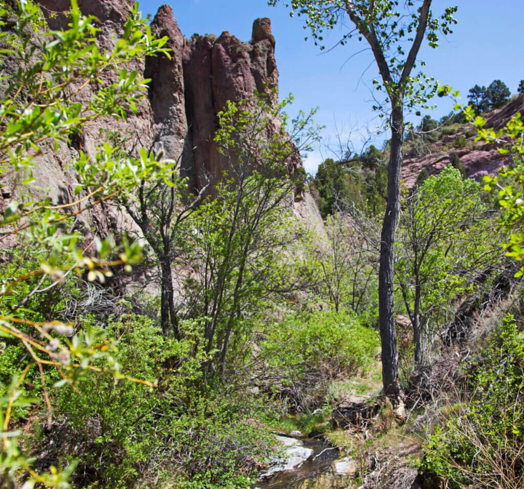
[[[286,287],[279,263],[293,239],[286,227],[294,191],[302,183],[289,176],[288,166],[299,151],[294,142],[307,132],[311,117],[294,121],[289,137],[286,125],[279,124],[287,103],[275,106],[271,96],[259,94],[227,102],[219,114],[215,141],[228,169],[216,195],[194,214],[188,237],[196,272],[196,279],[188,280],[190,314],[204,318],[204,349],[211,355],[204,365],[206,383],[224,375],[228,351],[232,344],[244,344],[250,318],[264,298]],[[274,127],[280,129],[268,137]]]

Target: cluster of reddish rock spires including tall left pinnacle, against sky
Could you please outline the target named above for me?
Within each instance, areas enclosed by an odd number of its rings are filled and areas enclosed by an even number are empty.
[[[225,103],[238,102],[255,90],[270,93],[270,87],[278,86],[275,39],[269,19],[257,19],[250,42],[229,32],[219,38],[194,35],[188,41],[169,5],[160,7],[151,28],[167,36],[173,50],[171,59],[164,55],[146,60],[153,127],[170,158],[183,155],[182,167],[198,188],[208,175],[218,179],[226,169],[225,157],[213,141],[216,115]]]

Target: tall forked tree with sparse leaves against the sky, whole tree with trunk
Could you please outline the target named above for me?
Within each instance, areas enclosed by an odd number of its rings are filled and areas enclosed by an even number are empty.
[[[275,5],[278,0],[269,0]],[[400,210],[400,170],[404,139],[404,109],[425,105],[435,93],[434,79],[422,73],[412,75],[422,41],[428,40],[432,48],[438,46],[438,32],[451,32],[456,23],[456,7],[448,7],[439,18],[431,12],[431,0],[398,2],[386,0],[291,0],[291,14],[298,12],[306,17],[315,44],[323,41],[323,31],[339,25],[351,25],[340,41],[344,45],[352,37],[368,43],[377,63],[381,81],[375,80],[377,90],[384,89],[389,110],[385,104],[375,106],[381,116],[387,113],[391,129],[391,151],[388,164],[387,205],[380,245],[379,270],[379,322],[382,344],[384,392],[395,396],[400,392],[398,383],[398,346],[394,318],[394,242]],[[409,50],[406,43],[409,41]]]

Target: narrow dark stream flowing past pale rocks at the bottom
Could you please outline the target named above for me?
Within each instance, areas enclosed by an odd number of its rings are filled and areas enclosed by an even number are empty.
[[[258,489],[298,489],[299,487],[305,489],[306,487],[315,487],[314,480],[330,470],[333,461],[340,458],[340,453],[339,450],[331,448],[323,440],[305,439],[302,441],[305,448],[313,450],[313,455],[309,460],[305,461],[296,470],[277,472],[275,475],[267,477],[267,479],[258,481],[253,487]],[[336,478],[336,475],[334,477]],[[305,483],[307,480],[311,481],[312,484]]]

